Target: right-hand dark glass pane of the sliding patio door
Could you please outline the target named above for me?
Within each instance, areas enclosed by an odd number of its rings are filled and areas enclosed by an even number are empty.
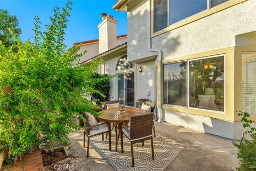
[[[126,74],[126,105],[134,107],[134,72]]]

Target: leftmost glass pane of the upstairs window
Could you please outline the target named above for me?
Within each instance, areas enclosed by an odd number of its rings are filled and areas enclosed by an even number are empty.
[[[155,0],[155,32],[168,26],[167,0]]]

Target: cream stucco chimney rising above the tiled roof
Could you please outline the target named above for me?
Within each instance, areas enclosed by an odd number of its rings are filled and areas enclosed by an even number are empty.
[[[99,29],[99,54],[116,47],[116,24],[113,16],[101,13],[102,21],[98,25]]]

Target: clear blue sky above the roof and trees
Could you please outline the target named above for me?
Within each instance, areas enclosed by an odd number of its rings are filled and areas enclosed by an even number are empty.
[[[75,42],[98,39],[98,24],[101,13],[112,15],[117,20],[117,35],[127,34],[126,12],[117,12],[112,9],[116,0],[73,0],[70,11],[68,28],[65,30],[65,44],[69,47]],[[64,7],[64,0],[28,0],[13,1],[0,0],[0,9],[8,10],[11,15],[16,15],[19,20],[19,27],[22,30],[22,40],[33,39],[34,16],[41,19],[42,27],[50,23],[50,16],[53,15],[55,6]]]

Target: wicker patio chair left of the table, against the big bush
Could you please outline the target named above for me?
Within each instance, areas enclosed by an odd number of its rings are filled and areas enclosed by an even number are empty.
[[[89,157],[89,145],[90,145],[90,137],[97,136],[102,134],[102,141],[104,141],[104,133],[108,133],[110,136],[108,137],[109,141],[109,151],[111,151],[111,125],[110,123],[99,122],[99,119],[96,118],[98,124],[89,126],[87,120],[84,121],[84,148],[85,148],[85,135],[87,136],[87,158]],[[92,129],[93,127],[99,127],[97,130]]]

